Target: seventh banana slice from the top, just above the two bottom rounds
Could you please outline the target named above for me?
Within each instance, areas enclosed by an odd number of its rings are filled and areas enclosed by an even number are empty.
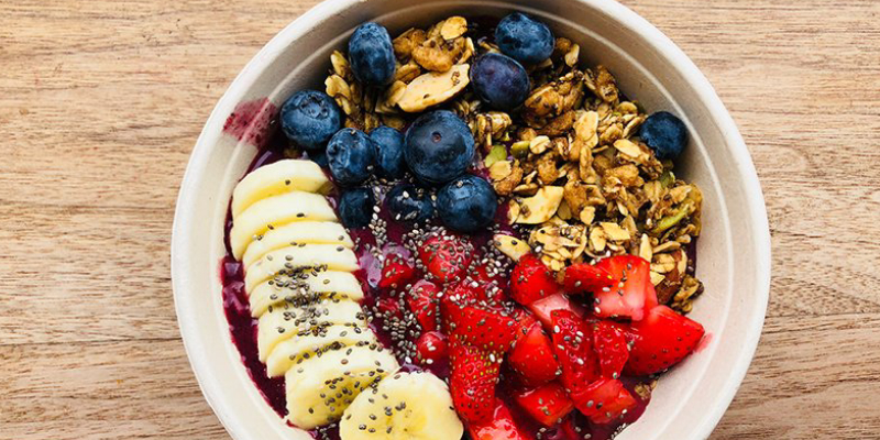
[[[283,376],[290,367],[310,358],[320,358],[333,350],[346,346],[376,344],[376,334],[370,328],[329,326],[314,329],[306,334],[278,342],[266,359],[266,374]]]

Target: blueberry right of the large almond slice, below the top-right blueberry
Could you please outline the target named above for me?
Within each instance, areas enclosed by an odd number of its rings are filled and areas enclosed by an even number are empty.
[[[476,95],[497,110],[513,110],[529,96],[529,74],[516,59],[488,53],[471,67],[471,84]]]

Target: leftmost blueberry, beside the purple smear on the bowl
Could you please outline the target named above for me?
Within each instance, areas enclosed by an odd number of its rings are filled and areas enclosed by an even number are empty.
[[[300,90],[282,106],[282,130],[306,150],[320,150],[342,127],[339,106],[324,92]]]

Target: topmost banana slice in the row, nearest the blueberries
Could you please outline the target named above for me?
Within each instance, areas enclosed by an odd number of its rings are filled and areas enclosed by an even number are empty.
[[[289,191],[327,194],[330,179],[315,162],[284,160],[264,165],[244,176],[232,193],[232,218],[257,200]]]

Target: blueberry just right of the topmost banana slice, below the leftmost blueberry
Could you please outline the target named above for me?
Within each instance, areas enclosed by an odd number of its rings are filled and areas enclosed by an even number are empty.
[[[330,174],[340,185],[364,183],[373,172],[376,143],[366,133],[342,129],[327,143],[327,163]]]

